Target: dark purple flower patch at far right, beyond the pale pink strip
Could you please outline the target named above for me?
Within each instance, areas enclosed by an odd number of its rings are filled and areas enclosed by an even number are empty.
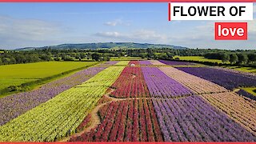
[[[177,69],[224,86],[229,90],[234,90],[234,88],[238,87],[256,86],[256,77],[245,74],[237,74],[210,67],[178,67]]]

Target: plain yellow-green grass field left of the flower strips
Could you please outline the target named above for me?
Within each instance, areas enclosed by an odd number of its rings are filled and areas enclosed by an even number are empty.
[[[0,66],[0,90],[95,63],[97,62],[35,62]]]

